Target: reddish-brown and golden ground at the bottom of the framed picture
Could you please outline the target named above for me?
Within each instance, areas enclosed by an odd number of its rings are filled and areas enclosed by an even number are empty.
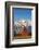
[[[21,30],[16,36],[16,39],[27,39],[27,38],[31,38],[31,33],[27,32],[27,30]]]

